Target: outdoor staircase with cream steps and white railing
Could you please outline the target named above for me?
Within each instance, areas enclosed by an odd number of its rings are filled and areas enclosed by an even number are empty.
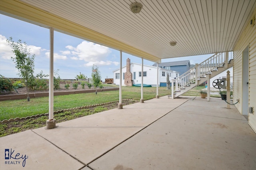
[[[206,75],[212,78],[228,68],[231,68],[233,66],[233,59],[232,55],[228,54],[228,52],[216,53],[202,63],[196,64],[196,66],[177,77],[175,80],[172,80],[172,95],[170,96],[177,98],[188,90],[206,82]]]

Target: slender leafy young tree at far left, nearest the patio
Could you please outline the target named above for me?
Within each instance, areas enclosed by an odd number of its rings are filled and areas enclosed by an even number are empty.
[[[12,37],[6,40],[8,44],[12,48],[12,52],[15,54],[16,57],[12,57],[12,61],[15,63],[15,67],[18,69],[18,75],[20,78],[23,78],[26,82],[27,86],[27,94],[28,94],[28,87],[32,87],[34,82],[34,58],[35,55],[30,56],[31,49],[27,48],[26,43],[22,43],[19,39],[18,42],[14,42]],[[30,101],[29,94],[28,94],[28,101]]]

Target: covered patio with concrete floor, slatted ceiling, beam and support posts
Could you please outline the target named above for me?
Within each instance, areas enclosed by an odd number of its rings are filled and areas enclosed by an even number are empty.
[[[142,4],[142,9],[135,14],[130,6],[136,2]],[[122,52],[140,57],[142,72],[144,59],[161,63],[173,57],[234,51],[233,96],[241,103],[226,109],[220,98],[207,102],[187,96],[144,102],[142,88],[141,103],[57,122],[54,129],[1,137],[0,154],[10,158],[7,156],[11,151],[13,157],[18,156],[10,161],[20,161],[14,165],[1,156],[1,169],[256,169],[256,134],[252,129],[256,127],[255,111],[249,114],[252,128],[241,115],[247,114],[242,108],[247,111],[249,106],[256,106],[256,1],[136,2],[1,0],[0,12],[49,28],[50,79],[54,31],[119,50],[120,68]],[[248,63],[242,62],[243,55]],[[249,66],[245,80],[240,74],[245,72],[242,63]],[[120,101],[121,92],[120,86]],[[49,96],[52,121],[53,91]]]

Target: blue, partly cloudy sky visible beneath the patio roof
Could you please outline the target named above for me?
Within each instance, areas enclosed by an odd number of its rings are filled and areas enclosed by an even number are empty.
[[[19,39],[26,42],[31,55],[35,54],[34,75],[39,72],[49,74],[50,65],[50,30],[32,23],[17,20],[0,14],[0,74],[8,78],[18,78],[18,69],[11,57],[15,57],[6,39],[12,37],[14,42]],[[162,63],[171,61],[190,60],[190,64],[201,63],[211,55],[198,55],[162,59]],[[122,66],[126,59],[131,63],[142,63],[142,59],[122,53]],[[98,45],[77,37],[54,31],[54,70],[58,70],[61,79],[75,79],[80,72],[91,77],[92,66],[95,64],[101,74],[101,80],[114,78],[113,71],[120,68],[120,51]],[[153,65],[148,60],[144,65]]]

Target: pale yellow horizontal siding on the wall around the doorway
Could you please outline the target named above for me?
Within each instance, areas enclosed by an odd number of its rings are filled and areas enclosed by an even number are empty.
[[[256,16],[256,10],[252,16]],[[252,17],[251,17],[252,18]],[[249,45],[249,106],[256,109],[256,25],[252,27],[248,21],[248,25],[243,31],[240,39],[234,47],[234,102],[240,99],[240,103],[236,104],[236,108],[242,113],[242,52]],[[256,111],[254,115],[249,114],[249,124],[256,131]]]

